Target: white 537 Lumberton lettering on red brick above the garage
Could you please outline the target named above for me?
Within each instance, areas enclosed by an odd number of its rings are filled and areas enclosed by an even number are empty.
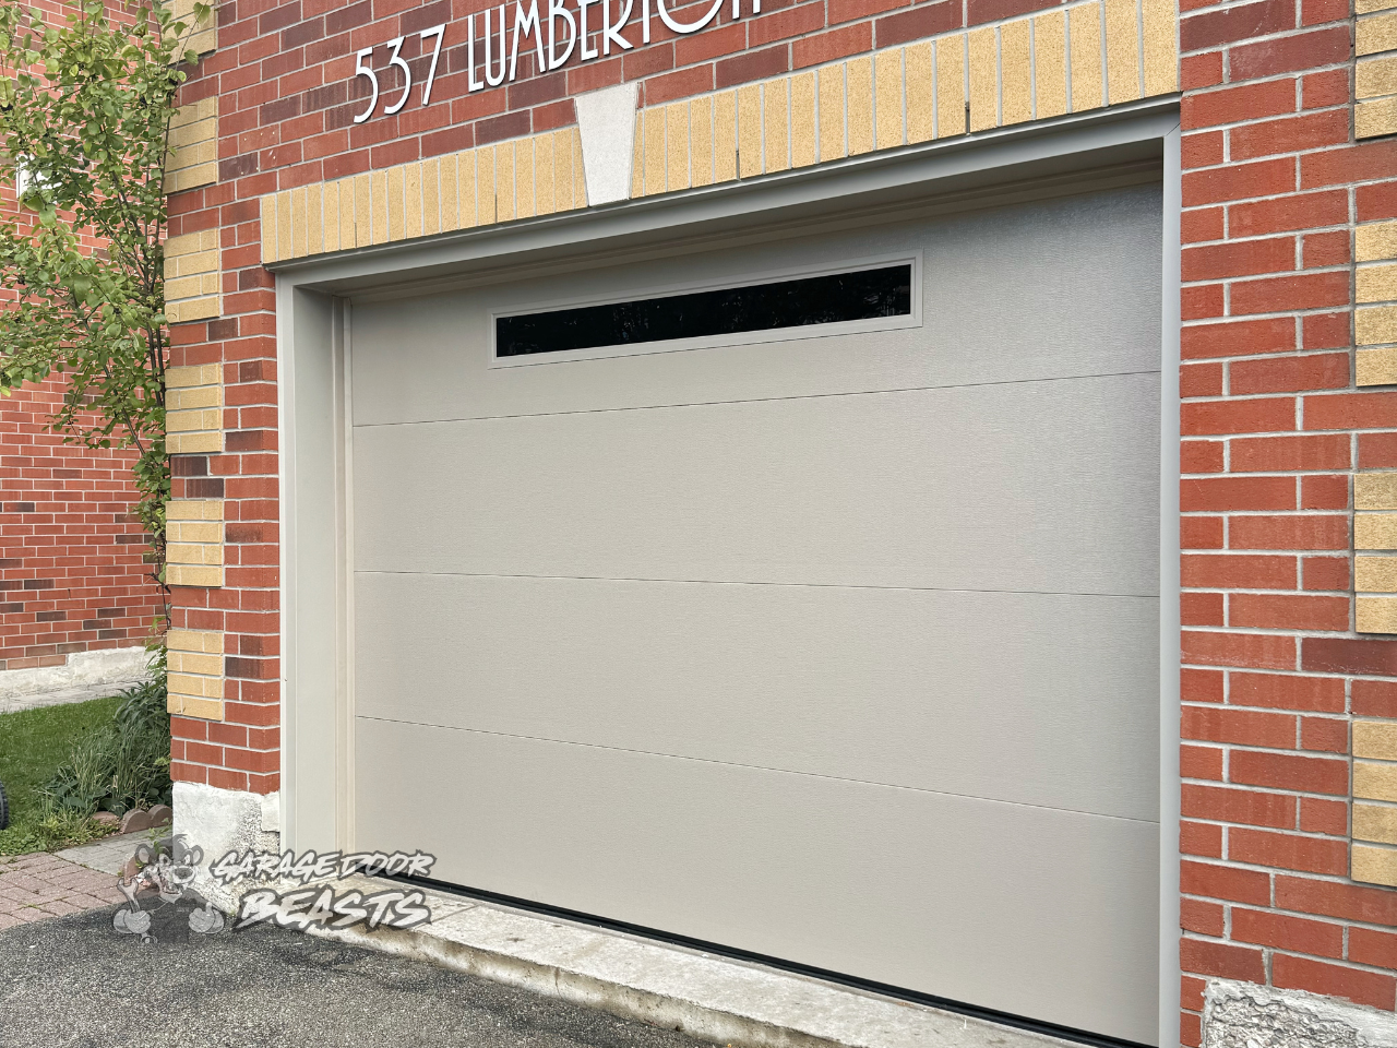
[[[761,0],[749,1],[752,4],[752,14],[761,14]],[[665,7],[665,0],[654,0],[654,7],[655,14],[659,15],[659,21],[665,24],[665,28],[683,35],[698,32],[710,25],[718,17],[718,11],[722,10],[725,3],[732,4],[733,21],[742,17],[742,0],[712,0],[708,10],[690,22],[682,22],[675,18]],[[651,0],[638,0],[638,4],[640,42],[650,43]],[[527,8],[524,7],[524,0],[514,0],[513,27],[506,25],[507,4],[500,4],[496,11],[485,8],[482,15],[483,25],[481,27],[483,32],[481,36],[479,63],[476,60],[475,15],[468,15],[465,20],[467,89],[475,92],[483,91],[488,87],[499,87],[506,81],[513,82],[518,67],[521,41],[527,42],[532,39],[541,73],[550,73],[559,68],[573,56],[574,49],[578,52],[580,61],[591,61],[601,54],[610,54],[613,45],[617,52],[630,50],[634,45],[622,36],[622,31],[630,24],[631,15],[636,14],[636,6],[637,0],[624,0],[620,17],[613,24],[610,21],[609,0],[574,0],[573,7],[567,6],[567,0],[543,0],[546,18],[539,18],[538,0],[529,0]],[[592,15],[597,21],[591,25],[587,21],[588,7],[601,8],[599,13]],[[499,27],[497,29],[496,25]],[[601,29],[601,48],[588,48],[587,45],[588,35],[594,29]],[[427,67],[426,82],[422,84],[422,105],[427,105],[432,101],[432,82],[436,80],[437,59],[441,57],[446,22],[433,25],[430,29],[423,29],[418,36],[422,41],[423,53],[426,53],[427,41],[433,41],[432,64]],[[545,36],[548,38],[546,42]],[[407,36],[398,36],[380,45],[393,52],[388,56],[388,66],[397,66],[402,70],[402,88],[393,103],[384,108],[383,112],[387,116],[400,112],[408,103],[408,96],[412,94],[412,70],[400,54],[405,39]],[[370,89],[369,108],[353,119],[356,124],[362,124],[379,108],[379,77],[373,68],[365,64],[366,59],[372,59],[373,52],[373,48],[356,52],[355,75],[367,77]],[[528,46],[525,43],[527,52]]]

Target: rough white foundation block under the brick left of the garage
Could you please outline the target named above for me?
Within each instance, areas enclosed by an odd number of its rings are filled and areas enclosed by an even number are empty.
[[[184,845],[203,848],[204,861],[194,890],[226,912],[237,907],[246,886],[232,890],[208,875],[208,865],[229,851],[278,851],[281,848],[281,805],[277,794],[247,794],[219,789],[201,783],[175,784],[175,833]]]

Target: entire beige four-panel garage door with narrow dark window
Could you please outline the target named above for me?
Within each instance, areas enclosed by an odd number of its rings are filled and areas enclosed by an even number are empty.
[[[356,302],[356,845],[1153,1042],[1160,214]],[[898,267],[890,309],[820,314]],[[703,307],[819,279],[803,327]],[[615,303],[675,296],[617,342]]]

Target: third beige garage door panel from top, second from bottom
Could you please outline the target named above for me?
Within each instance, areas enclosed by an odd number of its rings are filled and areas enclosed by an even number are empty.
[[[1112,715],[1154,679],[1144,598],[401,573],[356,597],[383,651],[362,717],[1158,813],[1157,729]]]

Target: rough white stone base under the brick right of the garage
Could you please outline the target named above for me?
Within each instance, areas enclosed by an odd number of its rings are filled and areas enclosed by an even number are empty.
[[[1298,989],[1213,980],[1203,1048],[1394,1048],[1397,1016]]]

